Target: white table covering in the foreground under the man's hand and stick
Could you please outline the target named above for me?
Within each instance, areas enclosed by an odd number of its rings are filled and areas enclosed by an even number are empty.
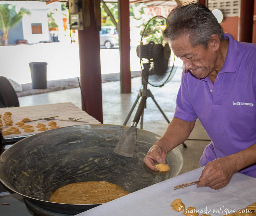
[[[186,208],[195,207],[199,215],[206,214],[205,211],[208,210],[210,212],[207,214],[214,216],[225,215],[225,209],[243,209],[256,201],[256,178],[241,173],[235,173],[229,184],[220,190],[197,188],[196,185],[174,190],[175,185],[198,180],[202,169],[203,167],[151,185],[78,215],[182,216],[183,212],[177,212],[170,206],[174,199],[180,198]]]

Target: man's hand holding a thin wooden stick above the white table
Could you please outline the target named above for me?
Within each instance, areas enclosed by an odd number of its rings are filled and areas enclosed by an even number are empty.
[[[235,171],[236,164],[228,156],[210,161],[204,167],[197,187],[210,187],[218,190],[229,183]]]

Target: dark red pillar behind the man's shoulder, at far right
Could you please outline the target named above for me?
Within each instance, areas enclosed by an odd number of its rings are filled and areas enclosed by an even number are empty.
[[[238,41],[252,43],[254,0],[241,0]]]

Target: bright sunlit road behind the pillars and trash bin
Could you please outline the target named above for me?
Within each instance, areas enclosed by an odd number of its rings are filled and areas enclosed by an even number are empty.
[[[30,83],[29,62],[47,62],[47,79],[80,76],[78,43],[46,43],[0,46],[1,75],[20,84]],[[101,49],[101,73],[120,72],[119,49]],[[140,70],[135,48],[131,49],[131,70]]]

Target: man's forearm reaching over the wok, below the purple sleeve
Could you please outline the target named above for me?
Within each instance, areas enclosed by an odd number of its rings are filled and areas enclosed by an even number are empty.
[[[166,132],[155,145],[166,148],[166,153],[183,143],[189,137],[195,125],[195,121],[187,122],[179,118],[173,118]]]

